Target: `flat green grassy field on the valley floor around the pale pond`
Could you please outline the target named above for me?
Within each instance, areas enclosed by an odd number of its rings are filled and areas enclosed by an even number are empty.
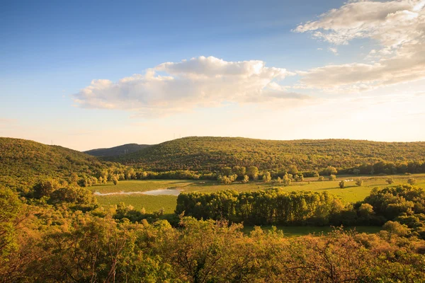
[[[392,178],[395,183],[392,186],[399,184],[406,184],[408,178],[416,178],[419,187],[425,187],[425,174],[416,175],[392,175],[392,176],[361,176],[358,178],[363,179],[363,186],[358,187],[353,181],[346,182],[346,187],[341,189],[339,187],[340,180],[353,180],[356,177],[339,175],[336,181],[317,181],[317,178],[306,178],[304,182],[293,182],[288,187],[283,187],[283,190],[288,192],[297,190],[310,190],[310,191],[324,191],[333,193],[343,198],[346,202],[357,202],[364,200],[369,195],[373,187],[387,187],[385,182],[387,178]],[[278,187],[278,184],[272,183],[233,183],[231,185],[220,185],[215,181],[203,180],[126,180],[120,181],[118,185],[108,183],[106,185],[95,185],[91,187],[94,192],[108,193],[108,192],[145,192],[147,190],[157,189],[180,189],[183,192],[217,192],[219,190],[237,190],[251,191],[263,190],[270,187]],[[159,209],[164,209],[165,213],[173,213],[176,208],[176,196],[172,195],[107,195],[97,196],[98,202],[104,206],[118,204],[125,202],[131,204],[135,209],[145,208],[146,212],[154,212]]]

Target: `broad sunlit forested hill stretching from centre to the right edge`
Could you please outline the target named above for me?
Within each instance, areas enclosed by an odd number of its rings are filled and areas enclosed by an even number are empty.
[[[349,139],[274,141],[239,137],[185,137],[109,158],[149,170],[210,171],[225,166],[320,170],[351,168],[378,161],[425,160],[425,142],[377,142]]]

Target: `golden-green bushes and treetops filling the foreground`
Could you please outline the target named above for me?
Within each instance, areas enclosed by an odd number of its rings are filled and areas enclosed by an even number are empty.
[[[85,190],[85,189],[84,189]],[[22,203],[1,190],[0,282],[421,282],[425,243],[407,224],[285,238],[182,217],[118,220],[77,202]],[[385,195],[385,194],[384,194]],[[6,204],[6,205],[3,205]],[[79,204],[81,208],[81,203]]]

